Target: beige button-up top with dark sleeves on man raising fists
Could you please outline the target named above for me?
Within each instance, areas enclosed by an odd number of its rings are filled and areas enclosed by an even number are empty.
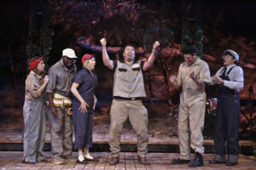
[[[113,96],[123,98],[146,97],[141,61],[127,65],[117,60],[114,71]]]

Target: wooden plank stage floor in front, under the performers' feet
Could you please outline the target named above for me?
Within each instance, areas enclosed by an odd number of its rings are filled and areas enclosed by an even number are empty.
[[[49,156],[49,152],[45,152]],[[73,156],[77,156],[77,152],[73,152]],[[203,167],[191,168],[187,164],[173,165],[172,159],[177,158],[177,153],[148,153],[148,161],[150,165],[144,166],[137,161],[137,153],[121,152],[120,162],[116,166],[108,164],[110,154],[108,152],[93,152],[93,156],[100,158],[98,162],[90,162],[87,165],[78,164],[75,161],[66,161],[63,165],[55,165],[52,162],[40,162],[35,165],[21,163],[23,153],[20,151],[0,151],[0,169],[19,169],[19,170],[34,170],[34,169],[61,169],[61,170],[167,170],[167,169],[256,169],[256,161],[253,156],[239,156],[238,165],[227,167],[223,164],[212,165],[208,161],[212,160],[213,154],[205,154]]]

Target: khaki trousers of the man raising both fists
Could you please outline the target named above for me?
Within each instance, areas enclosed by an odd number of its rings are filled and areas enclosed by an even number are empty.
[[[148,111],[141,100],[113,99],[110,111],[109,145],[112,156],[119,156],[122,128],[129,117],[137,133],[137,154],[148,152]]]

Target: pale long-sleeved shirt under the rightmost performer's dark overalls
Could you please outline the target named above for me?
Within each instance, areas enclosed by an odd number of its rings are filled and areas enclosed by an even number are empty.
[[[235,66],[235,67],[234,67]],[[225,80],[224,81],[224,86],[227,88],[231,88],[236,90],[236,92],[239,92],[242,88],[243,88],[243,71],[241,69],[240,66],[237,65],[228,65],[227,66],[227,71],[226,71],[226,75],[229,72],[230,68],[232,68],[232,71],[230,71],[228,77],[230,78],[230,81]],[[220,76],[222,74],[222,70],[224,69],[224,67],[221,67],[215,74],[215,76]],[[212,77],[212,82],[216,83],[214,81],[214,77]]]

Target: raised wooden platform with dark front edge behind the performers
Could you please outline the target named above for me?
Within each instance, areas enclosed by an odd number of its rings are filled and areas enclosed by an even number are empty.
[[[108,132],[93,131],[92,151],[109,151]],[[177,137],[170,137],[162,134],[148,135],[149,152],[179,152]],[[74,141],[74,137],[73,137]],[[122,151],[136,151],[137,136],[136,133],[124,128],[121,135]],[[253,147],[256,141],[240,140],[240,153],[243,155],[253,155]],[[204,139],[206,153],[214,153],[214,142],[212,139]],[[22,151],[23,150],[23,132],[22,130],[0,128],[0,151]],[[50,150],[50,134],[46,133],[44,150]]]

